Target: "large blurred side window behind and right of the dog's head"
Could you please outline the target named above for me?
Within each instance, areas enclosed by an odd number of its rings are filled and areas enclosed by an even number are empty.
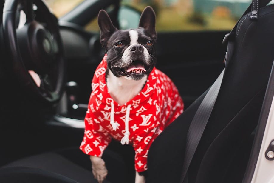
[[[157,31],[230,30],[251,0],[122,0],[142,11],[153,7]]]

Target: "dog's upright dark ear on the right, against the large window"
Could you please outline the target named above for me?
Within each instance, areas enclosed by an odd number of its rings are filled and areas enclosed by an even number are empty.
[[[156,16],[152,7],[147,6],[141,14],[139,27],[143,27],[145,31],[154,39],[157,39],[155,31]]]

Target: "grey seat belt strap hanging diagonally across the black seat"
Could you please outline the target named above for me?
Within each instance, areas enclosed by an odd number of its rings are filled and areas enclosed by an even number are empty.
[[[256,0],[258,3],[259,0]],[[264,7],[266,6],[270,0],[262,0],[260,2],[259,7]],[[244,12],[242,15],[245,16],[247,13],[250,13],[251,7],[254,8],[253,6],[254,1],[250,6],[247,8],[247,10]],[[258,7],[257,7],[257,12],[258,13]],[[254,13],[254,12],[253,12]],[[223,40],[223,43],[227,43],[227,52],[225,55],[225,68],[222,71],[222,73],[219,75],[219,77],[216,79],[216,81],[213,83],[213,85],[210,87],[208,90],[208,93],[205,95],[205,98],[203,99],[202,103],[200,104],[198,110],[196,111],[191,124],[188,129],[187,133],[187,139],[186,139],[186,149],[185,149],[185,159],[184,159],[184,164],[182,167],[182,174],[181,174],[181,179],[180,183],[188,183],[188,168],[191,164],[192,158],[194,156],[194,153],[198,147],[198,144],[201,140],[202,134],[205,130],[206,124],[208,123],[208,119],[211,115],[211,112],[213,110],[213,107],[215,105],[217,96],[219,94],[219,90],[222,84],[223,76],[226,71],[227,65],[231,57],[233,56],[233,50],[234,50],[234,40],[232,38],[235,37],[236,35],[236,29],[237,25],[239,24],[239,21],[242,19],[242,17],[238,20],[236,25],[233,27],[231,32],[227,35],[225,35],[225,38]],[[257,19],[258,17],[256,17]],[[252,20],[256,20],[254,18],[250,18]]]

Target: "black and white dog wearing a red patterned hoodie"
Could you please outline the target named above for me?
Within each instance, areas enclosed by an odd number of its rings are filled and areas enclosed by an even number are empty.
[[[171,79],[155,68],[156,17],[151,7],[139,28],[117,30],[100,10],[100,42],[106,55],[92,79],[80,149],[90,155],[92,173],[102,182],[108,173],[101,159],[111,139],[135,150],[136,183],[145,182],[153,140],[182,112],[184,104]]]

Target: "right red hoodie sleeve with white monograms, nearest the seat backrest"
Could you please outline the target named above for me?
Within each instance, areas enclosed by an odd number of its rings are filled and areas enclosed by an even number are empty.
[[[135,136],[133,147],[135,150],[135,170],[143,172],[147,170],[148,150],[157,137],[155,131],[157,128],[150,129],[148,133],[142,133]]]

